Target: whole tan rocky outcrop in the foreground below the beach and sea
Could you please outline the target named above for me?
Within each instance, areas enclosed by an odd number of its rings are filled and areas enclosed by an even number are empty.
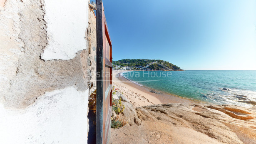
[[[136,112],[141,125],[112,129],[111,143],[256,143],[254,108],[158,104]]]

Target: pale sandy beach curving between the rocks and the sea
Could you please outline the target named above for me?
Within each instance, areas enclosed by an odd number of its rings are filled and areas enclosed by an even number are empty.
[[[170,94],[155,94],[149,92],[149,88],[142,87],[135,84],[120,75],[121,72],[127,72],[127,70],[113,70],[113,86],[117,91],[133,104],[134,107],[142,107],[152,104],[168,104],[168,103],[181,103],[181,104],[199,104],[190,99],[176,97]],[[200,103],[201,104],[201,103]]]

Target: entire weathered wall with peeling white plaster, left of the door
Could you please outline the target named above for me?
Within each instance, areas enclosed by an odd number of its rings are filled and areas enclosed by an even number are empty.
[[[87,0],[0,5],[0,143],[87,143],[96,20]]]

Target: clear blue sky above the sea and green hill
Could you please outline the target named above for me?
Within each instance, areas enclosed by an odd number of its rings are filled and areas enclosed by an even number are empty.
[[[256,70],[255,0],[103,0],[113,60]]]

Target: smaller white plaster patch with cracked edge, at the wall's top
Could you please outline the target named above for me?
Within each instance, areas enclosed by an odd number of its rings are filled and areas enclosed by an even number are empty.
[[[45,0],[48,45],[43,60],[70,60],[87,48],[88,0]]]

